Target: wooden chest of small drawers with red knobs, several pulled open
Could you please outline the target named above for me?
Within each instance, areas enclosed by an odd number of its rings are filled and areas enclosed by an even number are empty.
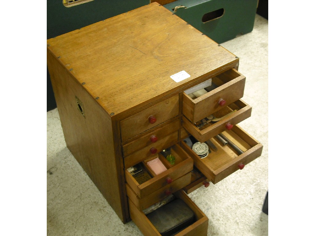
[[[132,219],[144,235],[160,235],[142,210],[172,193],[195,216],[180,235],[207,234],[207,216],[184,191],[219,182],[262,151],[236,125],[251,114],[240,100],[245,76],[238,62],[158,3],[47,40],[67,147],[123,222]],[[194,99],[185,93],[209,78],[215,89]],[[205,129],[196,127],[218,112],[228,115]],[[219,133],[243,153],[218,143]],[[201,159],[183,141],[190,135],[210,139],[218,151]],[[174,165],[160,153],[167,148],[176,156]],[[127,169],[156,157],[167,170],[139,184]],[[194,175],[196,168],[201,177]]]

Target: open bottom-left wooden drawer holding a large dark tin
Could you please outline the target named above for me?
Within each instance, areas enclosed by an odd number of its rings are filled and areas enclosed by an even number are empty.
[[[194,222],[187,228],[176,233],[176,236],[207,236],[208,217],[198,208],[198,206],[182,191],[174,193],[176,198],[182,199],[193,211]],[[145,236],[161,236],[148,217],[139,211],[135,204],[129,199],[130,217]]]

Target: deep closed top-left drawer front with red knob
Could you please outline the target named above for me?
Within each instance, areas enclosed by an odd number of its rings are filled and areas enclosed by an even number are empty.
[[[178,95],[120,121],[122,142],[162,124],[177,115],[179,115]]]

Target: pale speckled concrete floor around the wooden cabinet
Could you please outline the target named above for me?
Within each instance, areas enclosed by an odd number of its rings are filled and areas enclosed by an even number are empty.
[[[253,107],[241,122],[263,145],[261,157],[189,197],[209,218],[208,235],[268,235],[261,211],[268,190],[268,20],[256,15],[252,32],[221,44],[240,58],[246,76],[243,101]],[[47,235],[142,235],[123,224],[66,148],[58,110],[47,112]]]

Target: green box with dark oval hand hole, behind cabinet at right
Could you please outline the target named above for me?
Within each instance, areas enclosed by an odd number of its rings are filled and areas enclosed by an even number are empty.
[[[257,3],[258,0],[178,0],[164,7],[222,43],[253,30]]]

